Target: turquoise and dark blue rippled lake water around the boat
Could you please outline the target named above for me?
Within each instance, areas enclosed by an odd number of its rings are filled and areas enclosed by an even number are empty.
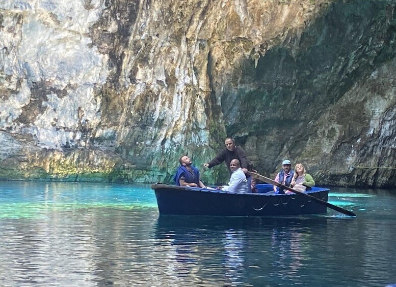
[[[0,286],[396,283],[396,191],[329,202],[357,217],[160,217],[149,185],[0,182]]]

